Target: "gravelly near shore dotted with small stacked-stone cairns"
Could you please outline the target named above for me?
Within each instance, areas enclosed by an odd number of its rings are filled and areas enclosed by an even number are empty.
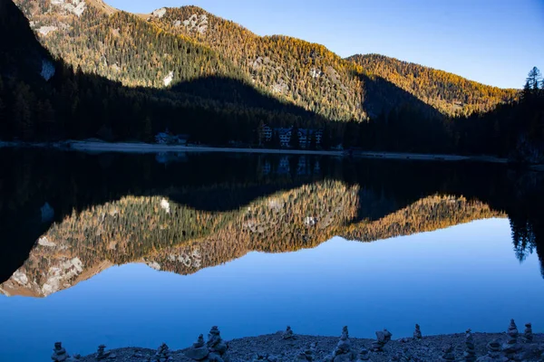
[[[216,333],[219,333],[219,329],[214,328]],[[526,329],[527,331],[527,329]],[[385,332],[385,330],[384,330]],[[385,332],[386,333],[386,332]],[[376,336],[383,332],[376,332]],[[415,335],[415,333],[414,333]],[[325,336],[305,336],[296,335],[290,329],[287,331],[278,331],[274,334],[261,335],[257,337],[236,338],[230,341],[223,341],[219,334],[208,335],[211,336],[215,343],[222,343],[228,346],[227,352],[220,353],[220,357],[229,362],[242,362],[242,361],[268,361],[268,362],[286,362],[286,361],[326,361],[327,358],[333,356],[334,353],[338,353],[338,349],[342,344],[346,346],[347,340],[349,353],[353,354],[354,359],[339,359],[345,361],[355,361],[355,359],[363,356],[370,357],[373,362],[389,362],[389,361],[438,361],[445,355],[444,350],[448,350],[452,347],[450,354],[455,359],[452,360],[464,360],[463,356],[467,350],[467,341],[472,340],[472,349],[475,357],[486,358],[490,352],[490,342],[497,341],[500,343],[501,351],[498,352],[500,356],[505,356],[509,346],[515,346],[517,348],[516,356],[523,361],[541,361],[540,358],[544,357],[544,334],[532,334],[532,340],[527,338],[528,334],[520,329],[511,329],[511,325],[507,333],[485,333],[485,332],[471,332],[467,330],[463,333],[445,334],[436,336],[424,336],[422,338],[399,338],[399,339],[385,339],[382,345],[383,350],[373,350],[377,346],[376,339],[370,338],[348,338],[347,329],[343,329],[342,336],[338,337],[325,337]],[[219,337],[218,337],[219,336]],[[420,335],[421,336],[421,335]],[[219,338],[219,339],[218,339]],[[378,337],[380,338],[380,337]],[[515,344],[510,343],[512,338],[516,340]],[[195,336],[195,341],[197,336]],[[208,338],[208,340],[211,340]],[[219,341],[219,342],[217,342]],[[383,341],[383,339],[382,339]],[[212,342],[213,344],[214,342]],[[65,346],[70,352],[70,346]],[[106,350],[108,354],[105,357],[106,360],[112,361],[155,361],[156,357],[165,357],[165,361],[173,362],[196,362],[205,361],[208,362],[206,356],[207,353],[214,353],[213,347],[210,348],[210,342],[207,344],[202,339],[199,343],[195,343],[193,347],[182,348],[179,350],[173,350],[165,348],[165,345],[159,349],[151,348],[116,348],[112,350]],[[224,349],[224,348],[222,348]],[[366,350],[366,352],[364,352]],[[166,351],[166,352],[165,352]],[[203,351],[203,353],[202,353]],[[347,353],[336,357],[347,357]],[[224,356],[223,356],[224,355]],[[199,356],[200,359],[192,359],[190,357]],[[211,356],[211,355],[210,355]],[[395,359],[397,357],[404,357],[407,359]],[[419,359],[416,359],[419,358]],[[475,358],[476,359],[476,358]],[[475,360],[474,359],[474,360]],[[88,355],[86,357],[80,357],[77,359],[81,362],[96,362],[101,360],[96,353]],[[157,359],[162,360],[162,359]],[[367,360],[360,358],[359,360]],[[478,359],[479,361],[488,361],[488,359]],[[491,359],[489,359],[491,361]]]

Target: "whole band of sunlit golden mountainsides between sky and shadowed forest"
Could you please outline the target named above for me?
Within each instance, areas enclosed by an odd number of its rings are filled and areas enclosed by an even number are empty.
[[[514,95],[458,76],[452,85],[434,73],[434,88],[413,90],[414,71],[395,71],[393,77],[382,58],[345,60],[316,43],[258,36],[196,6],[142,15],[117,11],[102,0],[15,3],[55,57],[129,87],[175,89],[186,81],[226,77],[330,120],[363,120],[403,103],[417,104],[426,114],[432,108],[466,113],[488,110]]]

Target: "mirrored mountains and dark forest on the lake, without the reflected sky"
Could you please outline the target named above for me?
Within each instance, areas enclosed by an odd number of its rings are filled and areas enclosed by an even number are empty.
[[[333,236],[372,242],[509,217],[542,261],[542,175],[335,157],[2,150],[0,291],[44,297],[113,264],[190,274]]]

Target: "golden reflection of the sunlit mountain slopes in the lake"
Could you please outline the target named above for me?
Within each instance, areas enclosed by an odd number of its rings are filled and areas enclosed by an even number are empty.
[[[504,216],[460,197],[432,196],[374,222],[357,222],[359,186],[324,181],[238,210],[209,213],[163,197],[127,196],[53,224],[24,265],[0,285],[5,295],[46,297],[113,264],[143,262],[189,274],[247,252],[293,252],[332,236],[374,241]]]

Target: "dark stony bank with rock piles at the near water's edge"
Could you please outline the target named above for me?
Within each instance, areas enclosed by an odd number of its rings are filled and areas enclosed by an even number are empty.
[[[392,339],[387,342],[383,352],[373,351],[373,342],[375,339],[348,338],[347,329],[338,337],[316,337],[296,335],[296,339],[285,339],[284,331],[272,335],[264,335],[252,338],[239,338],[224,342],[219,339],[219,330],[212,329],[209,338],[210,344],[204,344],[202,337],[191,348],[170,351],[169,361],[173,362],[194,362],[202,358],[203,354],[195,355],[191,353],[195,348],[207,348],[217,351],[225,351],[222,355],[218,354],[220,359],[215,356],[203,357],[211,360],[224,360],[225,362],[248,362],[254,360],[263,361],[325,361],[330,360],[332,356],[345,356],[348,360],[370,360],[373,362],[389,361],[441,361],[441,360],[478,360],[485,361],[506,361],[506,355],[509,357],[510,350],[502,351],[503,346],[512,346],[512,336],[515,331],[510,326],[509,334],[505,333],[475,333],[467,330],[466,333],[441,336],[424,336],[423,338],[401,338]],[[516,342],[517,360],[527,362],[544,361],[544,334],[532,334],[532,341],[524,340]],[[171,342],[170,342],[171,343]],[[215,343],[215,345],[214,345]],[[339,344],[341,348],[338,349]],[[213,345],[213,346],[212,346]],[[308,347],[310,346],[310,347]],[[347,347],[349,348],[347,348]],[[67,346],[69,349],[69,346]],[[228,349],[226,349],[228,348]],[[349,353],[344,353],[349,349]],[[205,352],[202,350],[202,352]],[[339,353],[343,352],[343,353]],[[506,352],[506,354],[504,353]],[[121,348],[111,351],[114,358],[108,358],[108,361],[118,362],[148,362],[152,361],[157,354],[157,350],[145,348]],[[189,358],[193,357],[193,358]],[[497,359],[495,359],[495,357]],[[368,358],[368,359],[366,359]],[[454,358],[454,359],[452,359]],[[343,359],[344,360],[344,359]],[[78,359],[81,362],[97,362],[96,354]]]

